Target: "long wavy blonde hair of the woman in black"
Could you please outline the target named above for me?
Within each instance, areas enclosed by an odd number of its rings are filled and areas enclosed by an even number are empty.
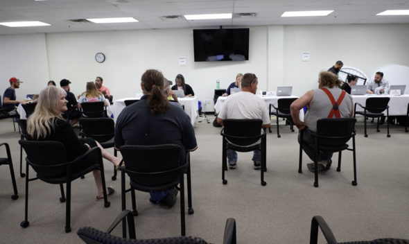
[[[51,133],[51,128],[55,130],[55,120],[62,119],[58,110],[58,101],[61,96],[66,96],[67,92],[61,87],[50,85],[40,92],[37,99],[37,106],[33,114],[27,119],[27,132],[33,139],[46,137]]]

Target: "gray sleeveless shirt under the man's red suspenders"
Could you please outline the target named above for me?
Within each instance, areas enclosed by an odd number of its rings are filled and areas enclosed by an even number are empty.
[[[338,87],[324,87],[331,92],[335,101],[338,101],[338,98],[341,95],[342,89]],[[331,100],[329,100],[328,95],[322,91],[322,89],[313,89],[314,96],[313,102],[311,106],[308,107],[308,111],[304,116],[304,123],[306,123],[308,129],[313,132],[317,132],[317,120],[328,118],[329,113],[331,112],[333,106]],[[352,96],[349,94],[345,94],[342,103],[339,105],[339,110],[341,114],[341,118],[349,118],[349,114],[351,114],[352,105]],[[336,115],[333,115],[333,118],[336,118]]]

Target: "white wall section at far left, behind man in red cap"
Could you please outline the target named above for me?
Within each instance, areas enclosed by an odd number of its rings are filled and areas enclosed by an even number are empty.
[[[0,35],[0,96],[10,87],[10,78],[19,78],[20,88],[16,89],[17,100],[27,94],[38,94],[49,81],[46,39],[38,35]],[[3,101],[1,101],[3,103]]]

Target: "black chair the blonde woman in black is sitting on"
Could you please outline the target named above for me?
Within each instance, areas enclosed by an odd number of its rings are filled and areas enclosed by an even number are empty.
[[[23,146],[26,151],[26,214],[24,221],[21,222],[20,226],[25,228],[30,224],[28,222],[28,182],[40,179],[43,182],[49,184],[60,184],[61,198],[60,202],[66,202],[65,211],[65,232],[71,232],[71,182],[78,179],[82,175],[90,173],[94,170],[101,171],[101,178],[103,189],[105,187],[105,175],[104,175],[104,165],[101,155],[101,149],[98,147],[91,148],[87,153],[76,158],[72,162],[67,162],[67,154],[65,147],[62,143],[57,141],[26,141],[19,140],[21,146]],[[87,159],[87,155],[94,152],[98,152],[98,163],[85,168],[82,171],[73,171],[71,169],[72,165],[77,165],[81,163],[84,159]],[[30,165],[37,177],[28,177],[28,165]],[[58,175],[60,173],[60,175]],[[55,176],[57,175],[57,176]],[[64,196],[64,187],[62,184],[67,183],[67,198]],[[104,206],[110,207],[110,202],[107,201],[107,192],[103,191],[104,195]]]

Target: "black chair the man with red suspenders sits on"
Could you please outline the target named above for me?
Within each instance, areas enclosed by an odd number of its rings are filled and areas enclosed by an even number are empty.
[[[314,135],[314,144],[311,145],[315,149],[315,182],[314,186],[318,187],[318,152],[326,151],[331,153],[338,152],[338,168],[341,171],[341,155],[343,150],[350,150],[354,157],[354,181],[352,185],[356,186],[356,146],[355,146],[355,123],[354,118],[335,118],[335,119],[319,119],[317,121],[317,134]],[[299,136],[299,168],[298,173],[302,173],[302,144],[304,130],[300,131]],[[347,142],[352,138],[352,148],[349,148]]]

